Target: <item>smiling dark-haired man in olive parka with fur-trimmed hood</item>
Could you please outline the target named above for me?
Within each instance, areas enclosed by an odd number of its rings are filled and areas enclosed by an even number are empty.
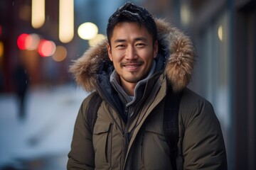
[[[194,61],[191,40],[178,29],[131,3],[117,9],[107,41],[70,68],[92,93],[75,122],[68,169],[227,169],[213,107],[186,88]],[[163,128],[169,94],[173,101],[181,94],[174,163]],[[97,95],[98,108],[90,102]],[[97,110],[93,130],[89,107]]]

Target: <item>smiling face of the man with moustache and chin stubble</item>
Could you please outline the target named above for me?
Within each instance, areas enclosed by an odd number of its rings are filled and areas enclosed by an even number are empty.
[[[137,84],[149,73],[157,56],[158,44],[144,26],[137,23],[118,23],[108,45],[108,55],[119,74],[122,85]]]

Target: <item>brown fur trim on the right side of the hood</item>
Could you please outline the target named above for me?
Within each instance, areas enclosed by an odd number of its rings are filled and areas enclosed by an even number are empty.
[[[156,19],[159,38],[164,38],[169,45],[170,56],[166,63],[166,76],[174,91],[181,91],[191,81],[193,65],[195,64],[195,50],[188,36],[181,33],[164,20]],[[161,39],[160,39],[161,40]]]

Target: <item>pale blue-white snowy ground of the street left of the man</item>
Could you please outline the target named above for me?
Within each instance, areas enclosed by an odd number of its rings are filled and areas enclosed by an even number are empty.
[[[66,169],[78,109],[85,91],[74,85],[31,87],[26,117],[14,94],[0,95],[0,169]]]

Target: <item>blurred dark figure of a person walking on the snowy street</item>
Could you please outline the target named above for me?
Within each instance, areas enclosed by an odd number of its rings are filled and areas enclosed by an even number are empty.
[[[26,117],[26,94],[28,91],[29,76],[22,63],[14,69],[14,90],[18,99],[18,118]]]

